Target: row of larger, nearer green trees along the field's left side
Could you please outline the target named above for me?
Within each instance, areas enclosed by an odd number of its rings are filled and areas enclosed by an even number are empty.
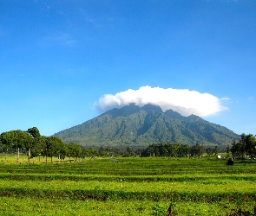
[[[50,157],[51,162],[53,157],[63,160],[66,156],[76,162],[79,158],[86,156],[95,156],[95,149],[82,149],[76,143],[62,143],[60,137],[45,137],[41,136],[36,127],[23,130],[10,130],[3,132],[0,135],[0,147],[3,151],[2,162],[6,162],[7,153],[9,151],[16,153],[16,163],[19,162],[20,152],[28,156],[28,163],[30,159],[36,156],[43,157],[45,162]]]

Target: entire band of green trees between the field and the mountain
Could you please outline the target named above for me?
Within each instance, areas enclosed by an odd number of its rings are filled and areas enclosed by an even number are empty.
[[[252,134],[242,134],[240,141],[233,141],[232,147],[226,147],[226,154],[237,157],[256,156],[256,137]],[[183,157],[183,156],[216,156],[218,147],[205,147],[200,143],[194,145],[187,145],[181,143],[153,143],[146,149],[131,148],[117,149],[109,147],[100,147],[99,149],[89,148],[83,149],[82,146],[76,143],[62,143],[60,137],[45,137],[41,136],[36,127],[30,128],[26,131],[23,130],[10,130],[3,132],[0,135],[0,149],[3,151],[2,162],[6,162],[7,153],[16,153],[16,163],[19,162],[20,152],[28,156],[28,163],[30,159],[39,156],[43,157],[45,162],[50,157],[57,157],[59,160],[71,157],[75,162],[85,157],[95,156],[167,156],[167,157]]]

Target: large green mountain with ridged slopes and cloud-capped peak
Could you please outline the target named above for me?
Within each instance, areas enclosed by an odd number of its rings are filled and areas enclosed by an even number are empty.
[[[113,109],[83,124],[62,130],[54,136],[64,143],[82,146],[148,146],[152,143],[227,145],[240,136],[219,124],[195,115],[183,117],[157,105],[130,104]]]

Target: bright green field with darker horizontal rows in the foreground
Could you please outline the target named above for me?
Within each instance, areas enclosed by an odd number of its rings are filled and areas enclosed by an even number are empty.
[[[50,160],[48,160],[50,161]],[[95,158],[0,163],[1,215],[226,215],[256,205],[256,162]]]

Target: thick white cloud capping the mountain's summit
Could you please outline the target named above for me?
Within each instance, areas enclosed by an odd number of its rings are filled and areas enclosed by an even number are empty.
[[[221,105],[219,98],[209,93],[151,86],[142,86],[138,90],[128,89],[115,95],[105,94],[95,102],[94,107],[99,111],[108,111],[130,103],[139,106],[159,105],[162,111],[172,109],[183,116],[194,114],[206,117],[227,110],[226,106]]]

